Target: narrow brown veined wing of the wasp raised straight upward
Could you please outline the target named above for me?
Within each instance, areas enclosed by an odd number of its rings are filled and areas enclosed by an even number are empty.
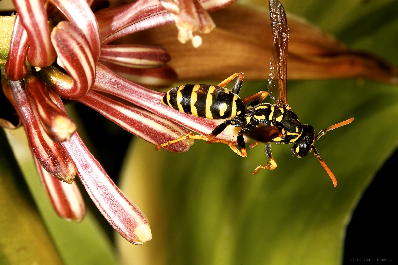
[[[285,10],[278,0],[269,0],[269,15],[271,17],[271,28],[274,41],[272,57],[275,61],[275,86],[278,87],[280,106],[287,106],[287,46],[289,43],[289,27]],[[272,59],[271,59],[272,63]],[[271,67],[270,67],[271,68]],[[270,71],[271,73],[271,71]],[[268,91],[269,93],[269,91]]]

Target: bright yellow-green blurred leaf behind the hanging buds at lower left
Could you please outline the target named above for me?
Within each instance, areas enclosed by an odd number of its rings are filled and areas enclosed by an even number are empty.
[[[6,130],[6,132],[29,190],[64,263],[66,265],[118,264],[111,242],[89,209],[84,220],[78,224],[65,221],[55,213],[41,186],[23,128]]]

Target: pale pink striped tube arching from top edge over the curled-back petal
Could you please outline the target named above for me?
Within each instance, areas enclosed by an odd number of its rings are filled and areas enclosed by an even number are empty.
[[[97,62],[101,52],[100,30],[86,0],[49,0],[49,2],[82,31],[90,43],[94,61]]]

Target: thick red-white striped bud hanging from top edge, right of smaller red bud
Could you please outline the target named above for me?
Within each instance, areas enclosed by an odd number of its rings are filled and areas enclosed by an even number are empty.
[[[29,39],[28,62],[37,67],[52,64],[57,54],[50,41],[44,0],[13,0]]]

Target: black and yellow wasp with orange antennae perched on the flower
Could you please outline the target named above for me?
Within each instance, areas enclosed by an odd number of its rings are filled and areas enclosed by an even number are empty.
[[[277,163],[271,153],[271,142],[293,144],[292,151],[295,157],[305,157],[314,150],[315,157],[332,179],[334,187],[336,187],[336,177],[321,159],[314,144],[326,132],[349,124],[354,118],[330,126],[321,130],[318,134],[315,133],[312,126],[300,122],[287,103],[289,27],[285,10],[278,0],[269,0],[269,14],[274,45],[269,64],[268,91],[260,91],[240,99],[238,95],[243,82],[243,73],[235,73],[218,85],[181,85],[170,89],[161,101],[163,104],[170,106],[170,108],[207,119],[227,120],[217,126],[207,136],[189,133],[174,141],[158,145],[156,150],[183,139],[202,139],[209,143],[226,143],[233,151],[246,157],[245,135],[255,140],[249,145],[250,148],[255,147],[260,142],[265,142],[265,155],[269,163],[255,168],[252,174],[257,174],[260,169],[273,170],[277,167]],[[226,89],[225,86],[236,77],[233,89]],[[275,104],[262,103],[268,95]],[[249,102],[250,104],[248,104]],[[240,128],[236,138],[240,151],[232,141],[215,139],[227,126]]]

